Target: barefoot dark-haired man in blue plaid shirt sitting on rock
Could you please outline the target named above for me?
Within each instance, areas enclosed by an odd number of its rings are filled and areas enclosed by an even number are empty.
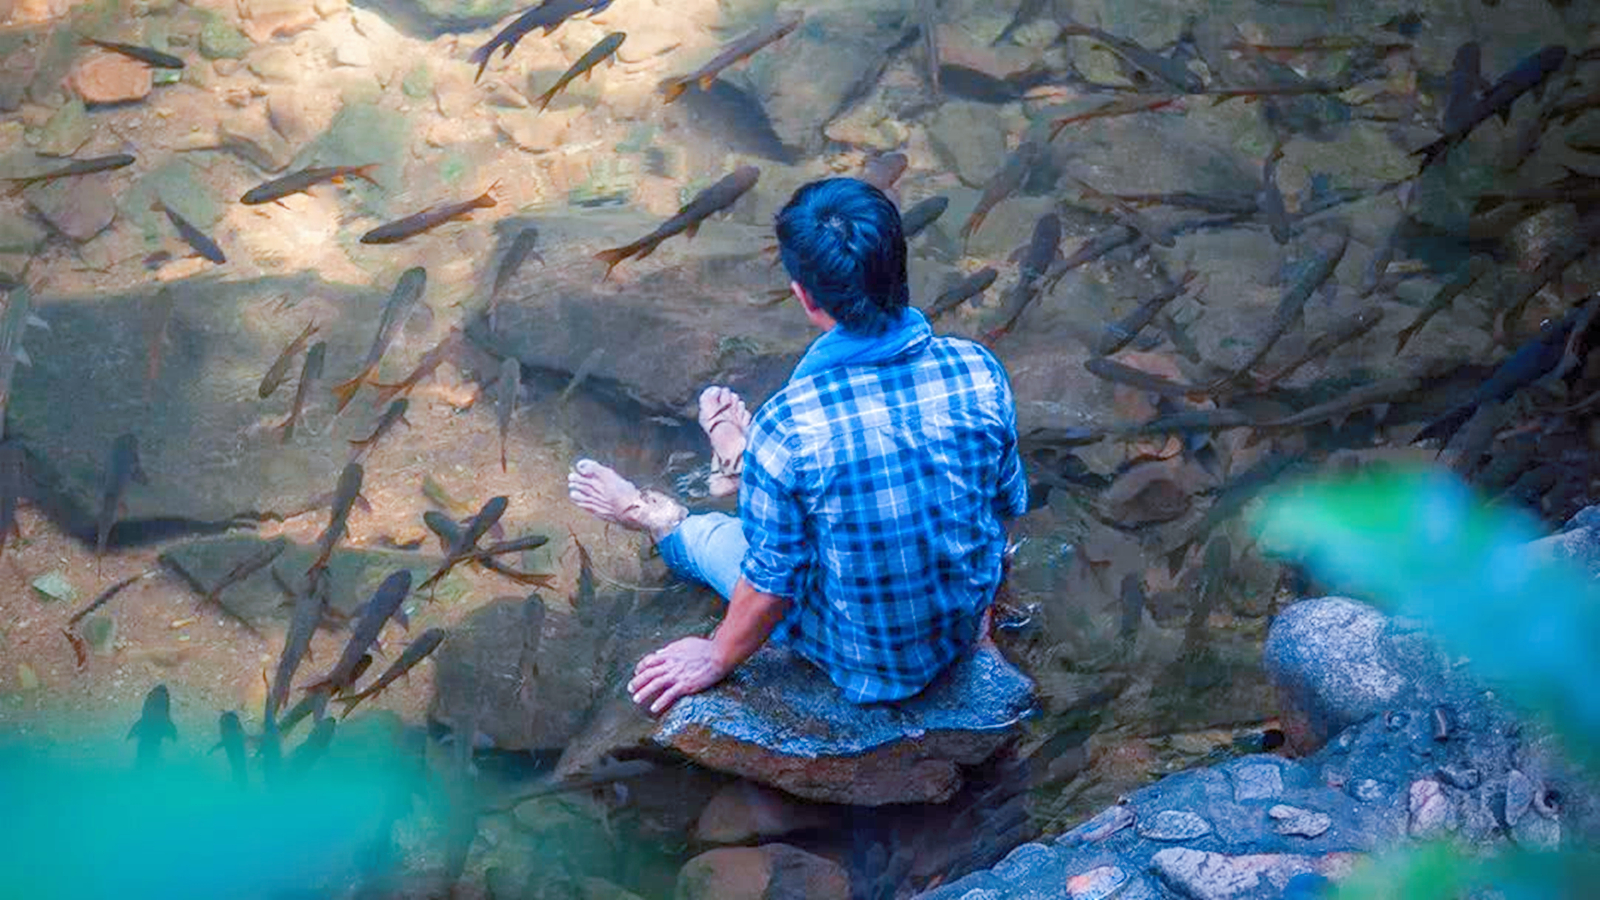
[[[629,690],[651,713],[768,639],[851,701],[920,692],[979,641],[1002,520],[1027,509],[1005,370],[971,341],[933,336],[910,307],[894,205],[850,178],[811,183],[778,215],[778,242],[824,335],[754,418],[725,388],[701,394],[718,474],[742,464],[739,519],[688,516],[592,460],[568,476],[578,506],[650,532],[674,572],[728,599],[710,637],[640,660]]]

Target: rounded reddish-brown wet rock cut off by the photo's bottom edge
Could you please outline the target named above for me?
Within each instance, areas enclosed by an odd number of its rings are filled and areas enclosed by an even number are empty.
[[[677,900],[848,900],[850,876],[838,863],[789,844],[709,850],[678,871]]]

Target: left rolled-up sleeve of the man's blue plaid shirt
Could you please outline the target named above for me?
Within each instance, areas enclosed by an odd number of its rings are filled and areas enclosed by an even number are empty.
[[[795,469],[789,440],[760,418],[752,423],[739,484],[739,520],[750,544],[742,572],[757,591],[786,599],[800,596],[813,557]]]

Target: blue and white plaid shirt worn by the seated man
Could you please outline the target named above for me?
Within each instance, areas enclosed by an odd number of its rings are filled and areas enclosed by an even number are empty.
[[[1027,511],[1005,368],[920,328],[890,359],[797,373],[744,456],[744,578],[790,601],[773,641],[856,703],[910,697],[973,645],[1002,519]]]

